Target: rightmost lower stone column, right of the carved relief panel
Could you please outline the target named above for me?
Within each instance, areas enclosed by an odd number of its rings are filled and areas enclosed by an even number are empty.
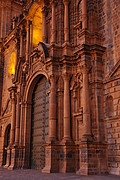
[[[88,67],[82,66],[83,69],[83,124],[84,134],[91,135],[91,123],[90,123],[90,105],[89,105],[89,87],[88,87]]]

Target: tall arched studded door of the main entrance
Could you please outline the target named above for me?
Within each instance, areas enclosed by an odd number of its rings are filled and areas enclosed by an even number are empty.
[[[45,166],[45,142],[49,133],[49,83],[45,76],[37,82],[32,94],[30,164],[32,169]]]

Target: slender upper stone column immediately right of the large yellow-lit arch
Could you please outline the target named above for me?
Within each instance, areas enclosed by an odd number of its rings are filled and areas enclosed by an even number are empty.
[[[42,41],[46,42],[46,8],[42,8]]]

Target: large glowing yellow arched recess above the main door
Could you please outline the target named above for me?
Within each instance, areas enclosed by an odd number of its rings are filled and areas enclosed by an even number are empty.
[[[33,46],[42,41],[42,12],[38,8],[33,18]]]

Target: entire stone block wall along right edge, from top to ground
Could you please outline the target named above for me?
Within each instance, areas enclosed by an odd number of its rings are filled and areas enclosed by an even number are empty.
[[[104,119],[108,143],[108,170],[120,174],[120,2],[98,0],[99,32],[106,47],[104,57]]]

